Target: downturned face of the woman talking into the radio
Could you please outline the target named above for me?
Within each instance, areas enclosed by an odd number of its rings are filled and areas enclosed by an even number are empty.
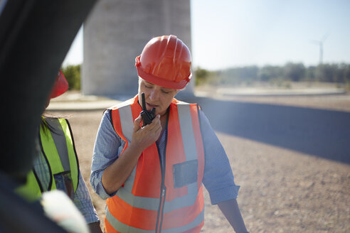
[[[175,95],[179,90],[169,89],[166,87],[161,87],[154,85],[151,82],[142,80],[139,81],[139,103],[142,104],[141,93],[144,92],[144,100],[146,102],[147,111],[156,109],[156,115],[159,114],[163,116],[166,114],[166,109],[168,109],[171,101],[174,99]]]

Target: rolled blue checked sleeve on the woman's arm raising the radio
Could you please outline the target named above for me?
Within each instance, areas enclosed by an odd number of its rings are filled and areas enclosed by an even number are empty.
[[[102,174],[114,163],[124,148],[124,141],[117,135],[110,118],[110,111],[105,111],[97,131],[94,151],[92,154],[90,183],[95,193],[102,199],[112,197],[102,185]]]

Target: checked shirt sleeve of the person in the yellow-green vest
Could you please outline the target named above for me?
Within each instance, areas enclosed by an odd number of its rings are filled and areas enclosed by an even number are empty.
[[[77,190],[75,191],[73,201],[88,224],[92,222],[100,222],[95,207],[92,205],[88,187],[86,187],[85,181],[81,174],[79,174],[79,184]]]

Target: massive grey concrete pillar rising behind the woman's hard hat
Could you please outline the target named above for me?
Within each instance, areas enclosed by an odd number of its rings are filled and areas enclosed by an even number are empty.
[[[84,24],[83,94],[137,93],[134,59],[154,36],[173,34],[191,50],[190,0],[100,0]],[[193,95],[194,78],[182,95]]]

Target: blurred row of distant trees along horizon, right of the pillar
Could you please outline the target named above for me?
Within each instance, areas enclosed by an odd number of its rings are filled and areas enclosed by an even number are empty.
[[[287,63],[284,66],[255,65],[231,67],[225,70],[208,71],[198,67],[195,71],[196,85],[245,85],[255,81],[271,82],[273,85],[285,86],[290,82],[336,82],[350,85],[349,64],[321,64],[305,67],[302,63]]]

